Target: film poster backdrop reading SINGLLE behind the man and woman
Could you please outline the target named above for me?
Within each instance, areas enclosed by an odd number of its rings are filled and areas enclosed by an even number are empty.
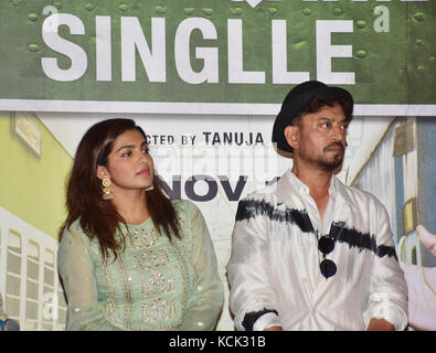
[[[387,208],[408,330],[436,330],[435,17],[417,0],[2,1],[1,324],[65,330],[65,182],[91,126],[131,118],[167,195],[204,215],[225,290],[216,330],[233,331],[237,202],[293,167],[273,124],[291,87],[318,79],[354,97],[338,176]]]

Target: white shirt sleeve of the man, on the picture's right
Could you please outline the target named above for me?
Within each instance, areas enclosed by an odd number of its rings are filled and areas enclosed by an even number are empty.
[[[404,330],[407,325],[407,284],[400,267],[392,239],[387,212],[380,205],[376,255],[371,274],[370,298],[363,320],[368,327],[372,318],[384,319]]]

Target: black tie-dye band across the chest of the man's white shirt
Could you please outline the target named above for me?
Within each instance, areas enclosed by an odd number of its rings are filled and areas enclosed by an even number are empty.
[[[263,200],[251,199],[240,201],[236,212],[236,222],[244,220],[248,221],[258,216],[266,216],[279,223],[295,224],[302,233],[316,232],[306,210],[277,210],[270,203]],[[375,235],[349,228],[345,222],[333,222],[328,237],[338,243],[345,243],[350,248],[357,247],[360,252],[366,249],[373,252],[379,257],[387,255],[389,257],[393,256],[397,259],[395,247],[386,245],[377,246]]]

